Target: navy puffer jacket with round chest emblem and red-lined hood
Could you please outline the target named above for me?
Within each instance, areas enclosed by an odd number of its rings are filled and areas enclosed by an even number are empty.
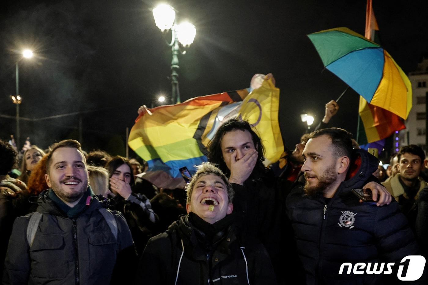
[[[360,161],[359,166],[350,170],[355,175],[340,184],[327,205],[321,194],[306,196],[302,186],[294,188],[287,198],[306,284],[383,284],[383,276],[396,282],[396,272],[391,275],[338,273],[344,262],[395,262],[398,265],[401,258],[418,254],[413,233],[398,203],[393,201],[377,207],[375,203],[360,203],[351,193],[353,188],[366,184],[378,163],[366,151],[355,149],[353,154],[353,161]]]

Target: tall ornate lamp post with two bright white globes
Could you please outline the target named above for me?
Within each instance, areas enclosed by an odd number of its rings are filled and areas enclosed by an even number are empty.
[[[178,52],[181,54],[186,53],[185,50],[180,50],[180,45],[182,47],[188,47],[193,43],[193,40],[196,36],[196,28],[189,22],[184,22],[181,24],[175,24],[175,10],[169,5],[160,4],[153,9],[153,17],[155,18],[156,26],[166,33],[168,30],[171,30],[171,43],[168,44],[171,47],[172,51],[172,61],[171,61],[171,85],[172,85],[172,103],[180,103],[180,91],[178,89]]]

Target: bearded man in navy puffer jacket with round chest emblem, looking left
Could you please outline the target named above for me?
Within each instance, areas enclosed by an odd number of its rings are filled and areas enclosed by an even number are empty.
[[[303,157],[301,170],[306,184],[292,190],[286,205],[306,284],[398,282],[398,264],[407,255],[419,253],[407,219],[397,202],[382,207],[373,202],[360,203],[351,191],[363,188],[377,169],[377,158],[366,151],[353,150],[351,134],[338,128],[313,132]],[[345,262],[362,262],[367,268],[360,265],[360,272],[355,273],[355,269],[348,271],[345,267],[339,274]],[[397,266],[390,275],[366,273],[374,266],[379,270],[380,262],[394,262]],[[384,276],[389,278],[387,283]],[[422,277],[412,284],[425,284],[424,280]]]

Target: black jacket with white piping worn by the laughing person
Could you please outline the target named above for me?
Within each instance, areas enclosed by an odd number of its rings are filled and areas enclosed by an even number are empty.
[[[196,231],[185,215],[165,233],[151,238],[141,258],[136,284],[276,284],[261,243],[250,239],[241,243],[229,226],[214,248],[208,249],[202,246]]]

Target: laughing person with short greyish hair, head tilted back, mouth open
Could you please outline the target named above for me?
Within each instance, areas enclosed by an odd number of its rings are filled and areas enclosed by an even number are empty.
[[[149,240],[136,284],[276,284],[262,244],[232,227],[234,193],[223,172],[202,163],[186,190],[187,215]]]

